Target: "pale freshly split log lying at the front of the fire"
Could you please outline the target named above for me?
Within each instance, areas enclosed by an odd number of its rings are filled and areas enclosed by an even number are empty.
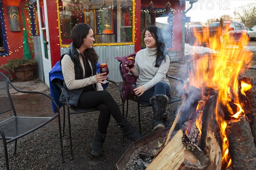
[[[200,170],[206,167],[207,161],[201,149],[179,130],[147,170]]]

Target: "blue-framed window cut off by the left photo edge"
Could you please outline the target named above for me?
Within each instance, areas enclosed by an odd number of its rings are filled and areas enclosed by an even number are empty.
[[[0,56],[8,55],[8,46],[6,41],[6,31],[5,31],[5,24],[3,19],[3,9],[2,9],[2,2],[0,1]]]

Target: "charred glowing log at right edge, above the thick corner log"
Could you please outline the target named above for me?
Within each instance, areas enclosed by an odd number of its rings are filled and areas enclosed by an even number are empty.
[[[244,82],[247,85],[253,86],[253,80],[248,77],[243,77],[239,79],[239,100],[241,101],[245,116],[247,117],[248,122],[250,123],[250,128],[252,130],[252,135],[254,138],[254,144],[256,145],[256,92],[254,88],[250,88],[249,90],[241,90],[243,89],[242,83]]]

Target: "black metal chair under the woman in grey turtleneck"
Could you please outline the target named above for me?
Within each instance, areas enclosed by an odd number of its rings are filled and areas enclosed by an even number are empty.
[[[123,73],[122,73],[122,62],[120,62],[120,64],[119,64],[119,71],[120,71],[120,74],[121,74],[121,77],[122,77],[123,82],[127,83],[128,85],[131,85],[132,88],[135,89],[135,88],[136,88],[136,85],[133,84],[133,83],[131,83],[131,82],[129,82],[129,81],[127,81],[127,80],[123,77]],[[132,76],[132,75],[130,75],[130,76]],[[169,74],[166,74],[166,77],[168,77],[168,78],[170,78],[170,79],[177,80],[177,81],[179,81],[179,82],[182,84],[182,86],[184,85],[183,80],[180,79],[180,78],[172,77],[172,76],[170,76]],[[127,98],[127,99],[126,99],[126,102],[127,102],[127,105],[126,105],[126,118],[127,118],[127,116],[128,116],[128,105],[129,105],[128,101],[129,101],[129,100],[136,102],[137,105],[138,105],[138,106],[137,106],[137,107],[138,107],[138,122],[139,122],[139,128],[140,128],[140,133],[141,133],[140,108],[141,108],[141,107],[148,107],[148,106],[151,106],[151,103],[140,101],[140,98],[138,97],[138,95],[134,95],[134,96],[132,96],[131,98]],[[175,103],[175,102],[179,102],[179,101],[181,101],[181,100],[183,100],[183,99],[179,99],[179,98],[176,98],[176,97],[173,97],[173,96],[169,96],[169,102],[167,103],[167,105],[172,104],[172,103]],[[125,101],[124,101],[124,102],[125,102]]]

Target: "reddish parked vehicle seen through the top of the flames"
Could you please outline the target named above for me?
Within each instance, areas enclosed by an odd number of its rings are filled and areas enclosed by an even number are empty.
[[[218,29],[219,24],[219,22],[211,23],[209,25],[209,29]],[[247,31],[243,23],[224,21],[222,27],[222,37],[224,44],[235,44],[238,45],[239,48],[244,48],[247,38]]]

